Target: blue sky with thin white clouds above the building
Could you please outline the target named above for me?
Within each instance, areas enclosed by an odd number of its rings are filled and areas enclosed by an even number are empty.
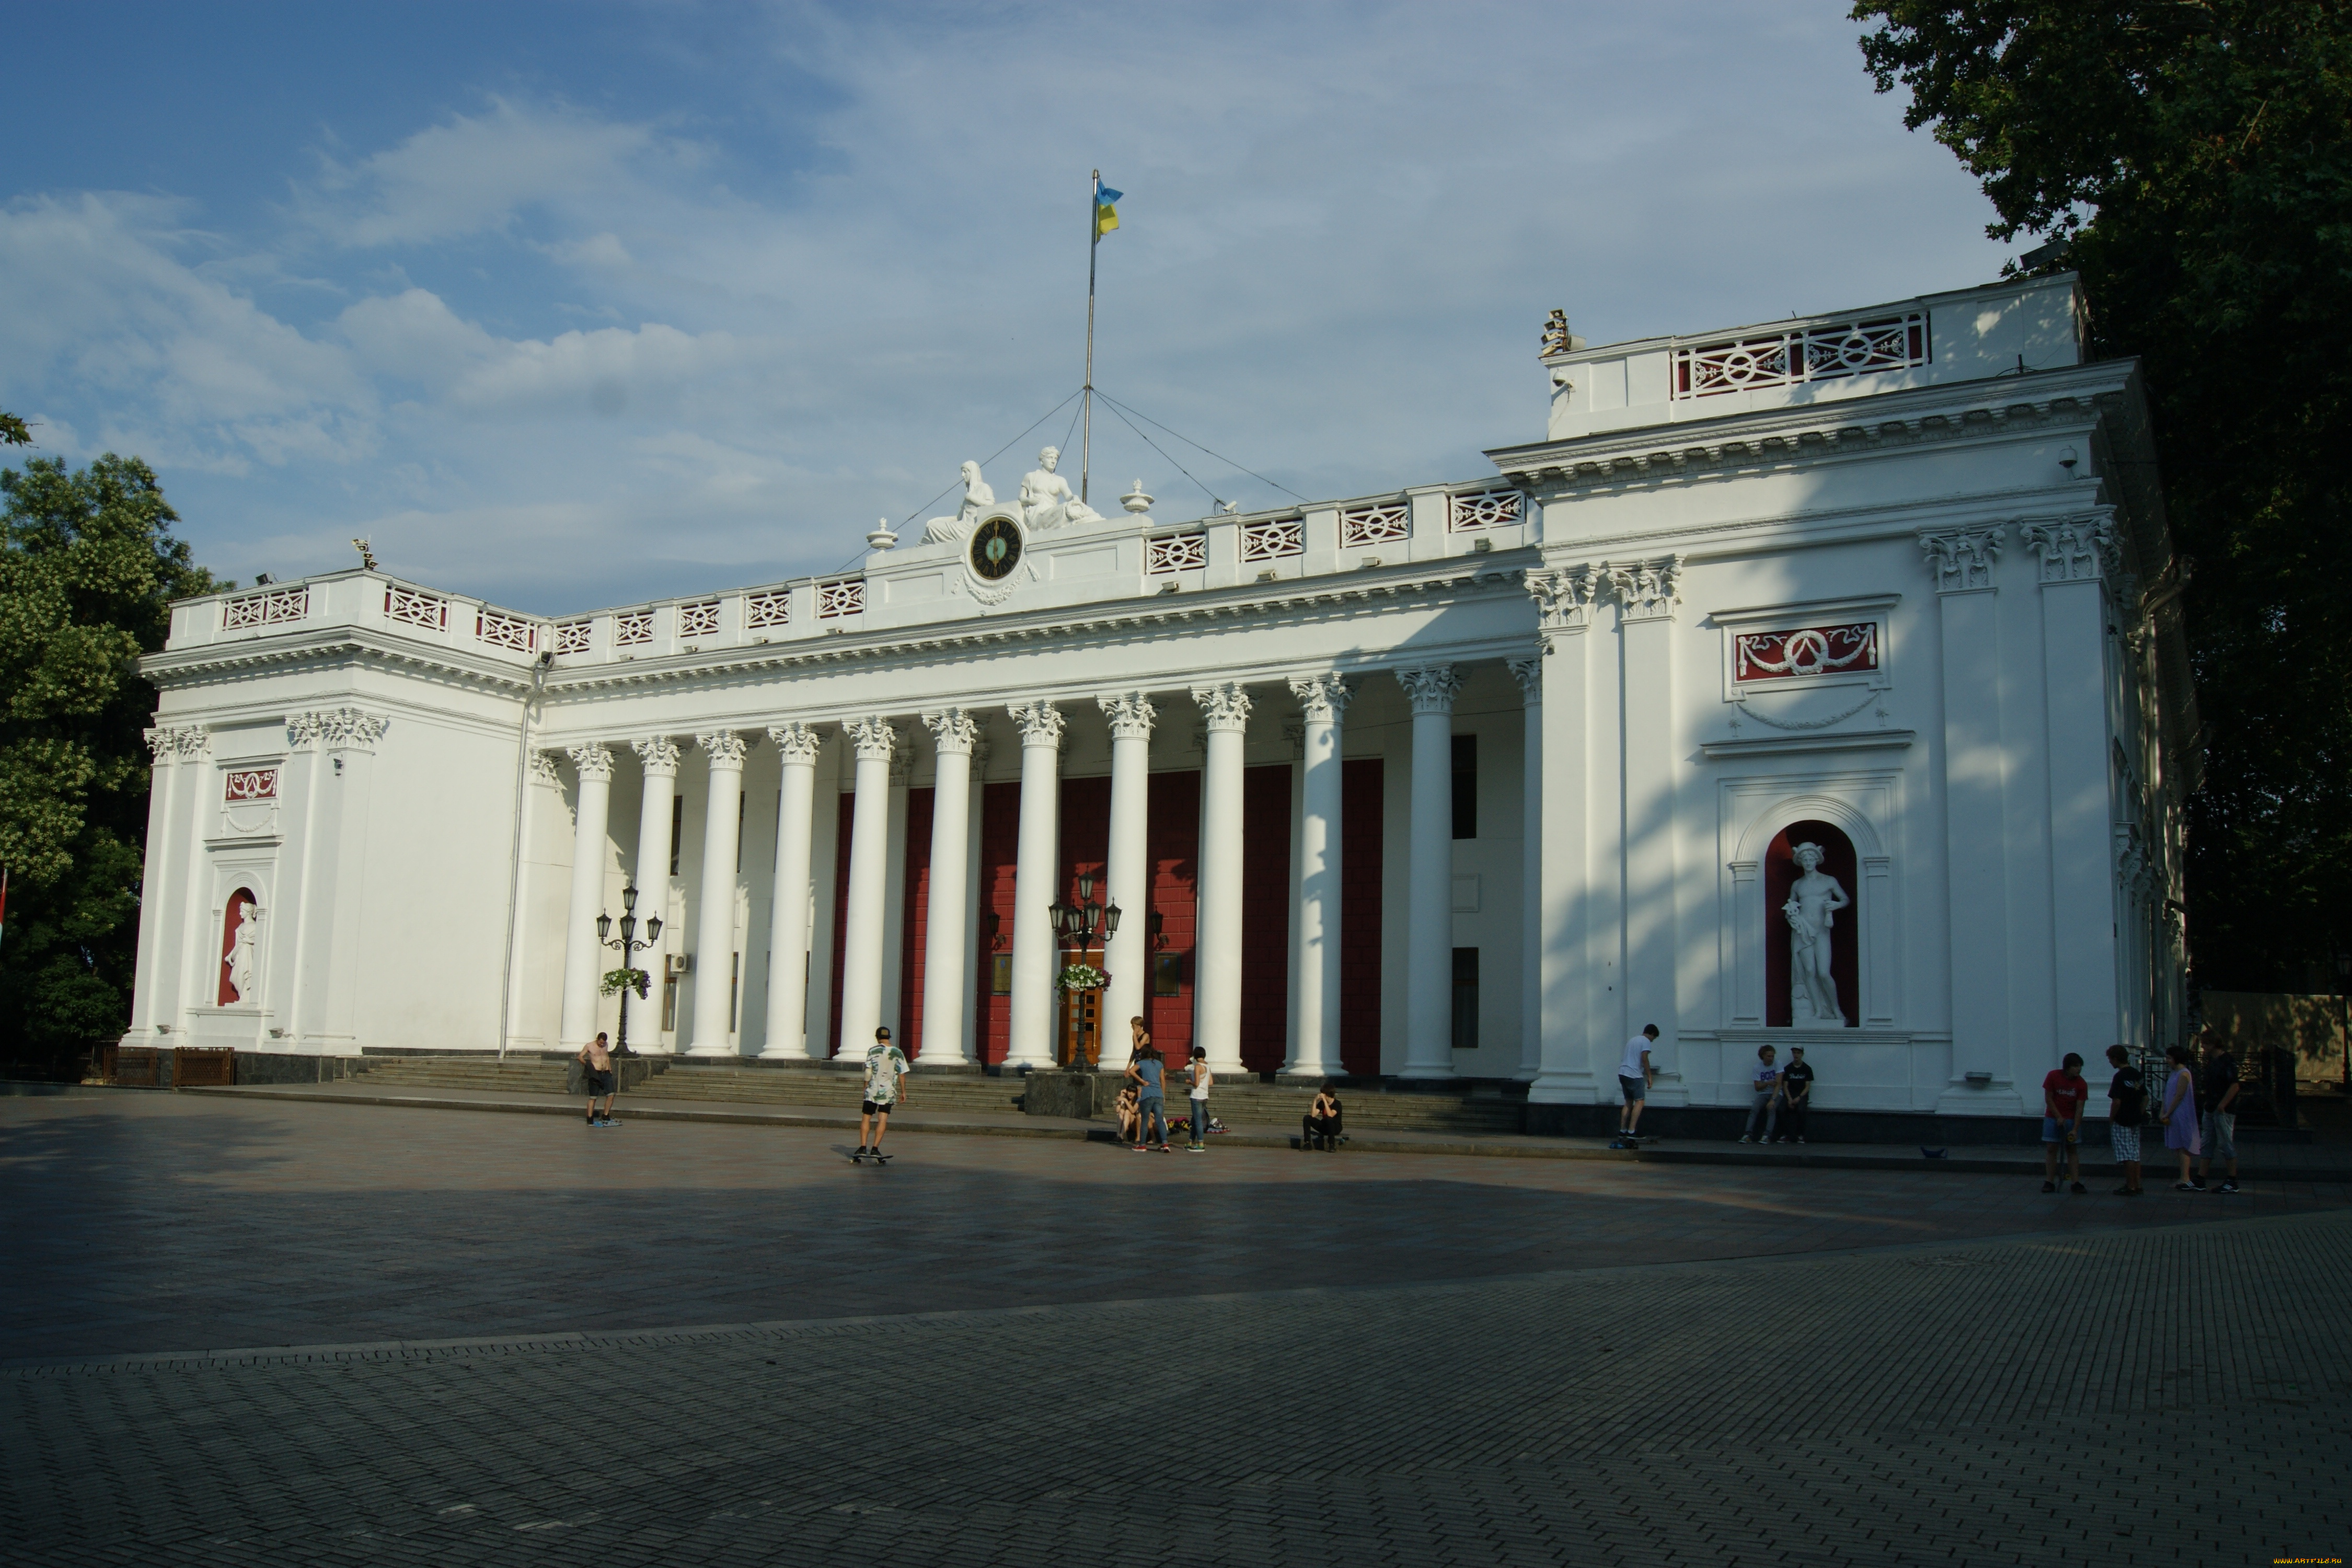
[[[833,571],[964,458],[1077,477],[1098,167],[1094,383],[1223,454],[1098,402],[1098,510],[1475,480],[1543,435],[1552,308],[1999,273],[1844,12],[16,5],[0,409],[146,458],[238,581],[355,536],[534,614]]]

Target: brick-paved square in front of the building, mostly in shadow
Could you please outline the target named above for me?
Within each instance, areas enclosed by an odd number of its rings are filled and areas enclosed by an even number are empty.
[[[0,1559],[2246,1563],[2352,1533],[2340,1187],[837,1143],[0,1100]],[[310,1349],[172,1354],[221,1345]]]

